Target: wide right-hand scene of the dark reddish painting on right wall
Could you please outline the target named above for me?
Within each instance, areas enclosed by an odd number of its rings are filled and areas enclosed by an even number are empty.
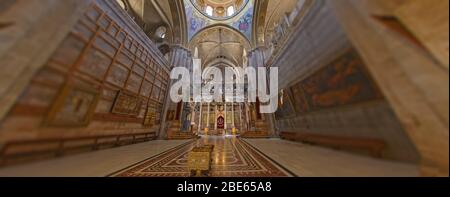
[[[313,110],[369,101],[380,97],[364,63],[351,50],[302,82],[305,98]]]

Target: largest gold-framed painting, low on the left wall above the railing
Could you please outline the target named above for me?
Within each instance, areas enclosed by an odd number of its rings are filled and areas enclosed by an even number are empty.
[[[47,126],[87,126],[100,98],[96,89],[67,83],[56,98],[45,120]]]

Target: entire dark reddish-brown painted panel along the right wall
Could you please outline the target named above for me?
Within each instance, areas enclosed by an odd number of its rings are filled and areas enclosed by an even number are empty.
[[[381,92],[365,70],[355,50],[331,62],[285,91],[277,118],[382,99]],[[291,101],[293,109],[290,109]]]

